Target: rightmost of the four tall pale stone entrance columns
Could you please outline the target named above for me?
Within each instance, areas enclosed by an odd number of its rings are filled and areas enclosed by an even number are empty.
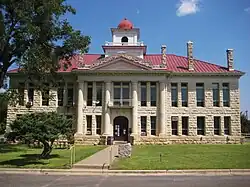
[[[165,86],[164,82],[160,82],[160,102],[159,102],[159,136],[165,134]]]

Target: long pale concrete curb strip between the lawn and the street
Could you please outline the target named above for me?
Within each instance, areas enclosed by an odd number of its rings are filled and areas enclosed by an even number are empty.
[[[107,169],[18,169],[0,168],[0,174],[42,175],[120,175],[120,176],[233,176],[249,175],[250,169],[202,169],[202,170],[107,170]]]

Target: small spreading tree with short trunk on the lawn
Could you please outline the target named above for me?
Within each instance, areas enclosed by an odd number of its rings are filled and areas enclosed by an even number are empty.
[[[74,134],[72,121],[56,112],[27,113],[10,124],[11,137],[26,143],[39,141],[43,144],[41,158],[47,158],[53,143],[61,135],[71,140]]]

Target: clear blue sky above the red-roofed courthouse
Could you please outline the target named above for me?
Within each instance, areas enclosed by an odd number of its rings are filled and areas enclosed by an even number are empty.
[[[186,42],[194,42],[197,59],[226,66],[226,49],[234,49],[240,79],[241,110],[250,111],[250,1],[249,0],[68,0],[77,10],[66,16],[75,29],[92,37],[89,53],[103,53],[111,41],[111,27],[123,18],[141,30],[148,53],[186,56]]]

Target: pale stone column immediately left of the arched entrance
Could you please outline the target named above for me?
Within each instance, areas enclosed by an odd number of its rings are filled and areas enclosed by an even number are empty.
[[[104,106],[104,128],[103,135],[110,135],[110,114],[109,107],[110,104],[110,92],[111,92],[111,82],[105,82],[105,106]]]

